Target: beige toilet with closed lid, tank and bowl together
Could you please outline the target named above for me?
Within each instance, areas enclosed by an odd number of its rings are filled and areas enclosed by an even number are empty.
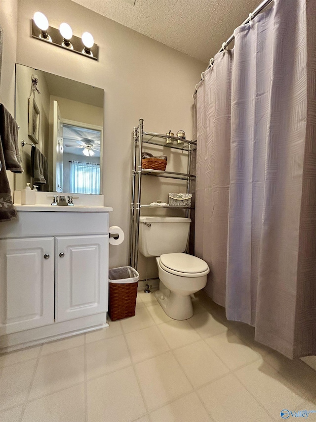
[[[191,294],[206,285],[208,265],[184,253],[190,232],[190,218],[140,217],[139,251],[156,257],[159,290],[155,292],[164,312],[174,320],[193,315]]]

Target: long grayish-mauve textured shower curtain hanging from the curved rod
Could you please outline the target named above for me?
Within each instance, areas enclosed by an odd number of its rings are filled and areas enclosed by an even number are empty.
[[[195,253],[229,320],[316,355],[315,0],[275,0],[197,86]]]

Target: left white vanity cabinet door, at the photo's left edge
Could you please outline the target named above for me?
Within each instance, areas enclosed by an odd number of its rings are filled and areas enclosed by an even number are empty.
[[[0,240],[0,335],[54,323],[54,238]]]

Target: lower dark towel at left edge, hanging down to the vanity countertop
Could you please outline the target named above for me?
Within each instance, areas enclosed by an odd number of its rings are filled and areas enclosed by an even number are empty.
[[[8,221],[17,217],[13,206],[11,189],[6,175],[2,139],[0,138],[0,221]]]

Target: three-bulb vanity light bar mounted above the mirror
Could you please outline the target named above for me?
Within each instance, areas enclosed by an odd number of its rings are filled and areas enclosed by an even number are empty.
[[[75,53],[98,60],[98,45],[89,32],[84,32],[82,37],[73,35],[73,30],[68,23],[63,22],[59,30],[49,26],[48,19],[41,12],[36,12],[32,22],[32,37],[40,41],[50,42],[51,44],[67,48]]]

